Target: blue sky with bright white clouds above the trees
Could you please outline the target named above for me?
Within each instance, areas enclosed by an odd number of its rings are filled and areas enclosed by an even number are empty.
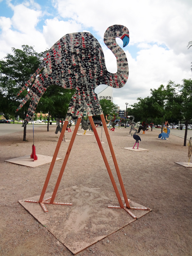
[[[181,84],[192,78],[192,47],[187,48],[192,41],[192,0],[0,0],[0,59],[12,47],[30,45],[41,52],[65,34],[89,31],[102,46],[106,68],[115,73],[116,58],[103,42],[105,30],[115,24],[126,26],[130,38],[125,48],[116,39],[129,65],[127,83],[113,89],[113,102],[120,109],[169,80]]]

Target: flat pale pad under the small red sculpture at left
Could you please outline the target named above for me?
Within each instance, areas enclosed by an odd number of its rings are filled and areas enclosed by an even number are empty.
[[[52,161],[53,157],[49,157],[48,155],[38,155],[38,159],[33,160],[33,158],[30,158],[30,155],[25,155],[24,157],[17,157],[9,160],[5,160],[5,162],[9,163],[15,163],[16,165],[24,165],[29,167],[37,167],[39,165],[45,165],[45,163],[50,163]],[[61,158],[56,158],[57,160],[60,160]]]

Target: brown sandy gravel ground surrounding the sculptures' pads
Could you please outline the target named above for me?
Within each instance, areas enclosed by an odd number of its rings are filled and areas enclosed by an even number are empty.
[[[74,130],[74,127],[72,127]],[[83,130],[81,130],[83,133]],[[101,128],[97,128],[101,137]],[[35,128],[37,154],[54,154],[57,135],[55,127]],[[79,255],[136,256],[192,255],[191,194],[192,168],[174,162],[188,162],[188,147],[183,138],[171,135],[157,140],[159,131],[140,135],[139,147],[148,151],[122,149],[135,143],[127,137],[129,128],[110,132],[120,172],[128,197],[153,211],[111,236],[92,245]],[[68,139],[71,133],[67,133]],[[4,160],[31,154],[33,131],[0,136],[0,255],[2,256],[68,256],[72,255],[47,229],[37,222],[18,200],[41,194],[50,164],[31,168]],[[59,189],[90,182],[113,191],[105,164],[94,136],[76,136]],[[107,142],[103,133],[102,141]],[[69,143],[62,143],[58,157],[64,159]],[[117,187],[117,175],[107,143],[102,144]],[[57,161],[48,185],[52,192],[62,160]],[[122,194],[121,194],[122,195]]]

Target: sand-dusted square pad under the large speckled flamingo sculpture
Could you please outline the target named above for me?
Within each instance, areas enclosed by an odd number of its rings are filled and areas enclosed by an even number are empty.
[[[51,195],[52,193],[47,193],[44,198]],[[27,200],[39,200],[39,197]],[[19,203],[73,254],[136,220],[124,209],[108,208],[108,204],[119,205],[117,197],[114,192],[105,191],[97,185],[93,187],[83,184],[58,191],[55,202],[72,203],[72,206],[45,204],[48,213],[38,203],[27,203],[25,200],[19,200]],[[130,205],[141,207],[132,201]],[[151,210],[131,211],[140,218]]]

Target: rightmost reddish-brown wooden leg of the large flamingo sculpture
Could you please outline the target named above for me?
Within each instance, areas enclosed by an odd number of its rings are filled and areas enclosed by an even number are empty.
[[[103,123],[103,127],[104,127],[104,130],[105,130],[105,134],[106,134],[106,137],[107,137],[107,140],[108,140],[109,148],[110,148],[110,151],[111,151],[111,155],[112,155],[112,158],[113,158],[113,162],[114,162],[114,166],[115,166],[115,169],[116,169],[116,172],[117,172],[117,176],[118,176],[118,180],[119,180],[119,183],[120,183],[120,186],[121,186],[121,190],[123,192],[123,197],[124,197],[124,200],[125,200],[125,204],[126,204],[127,208],[130,208],[128,198],[127,198],[127,194],[126,194],[126,191],[125,191],[125,187],[124,187],[124,184],[123,184],[123,180],[122,180],[122,177],[121,177],[121,173],[120,173],[120,170],[119,170],[119,167],[118,167],[117,159],[116,159],[114,149],[113,149],[113,146],[112,146],[112,143],[111,143],[111,139],[110,139],[110,136],[109,136],[108,128],[107,128],[107,125],[106,125],[106,122],[105,122],[105,118],[104,118],[103,114],[101,114],[100,116],[101,116],[101,121]]]

